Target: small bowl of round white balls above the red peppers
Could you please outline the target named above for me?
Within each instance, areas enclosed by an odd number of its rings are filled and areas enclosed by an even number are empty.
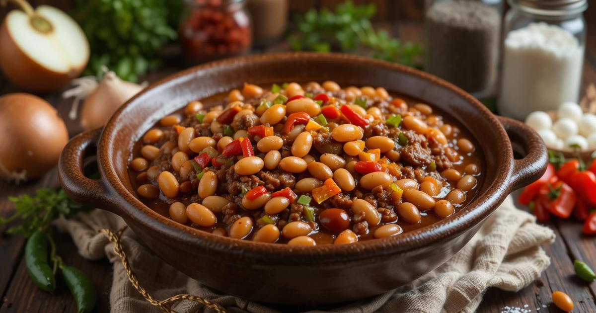
[[[534,111],[526,117],[526,124],[552,150],[568,153],[576,148],[582,152],[596,150],[596,115],[583,113],[576,103],[563,103],[556,114]]]

